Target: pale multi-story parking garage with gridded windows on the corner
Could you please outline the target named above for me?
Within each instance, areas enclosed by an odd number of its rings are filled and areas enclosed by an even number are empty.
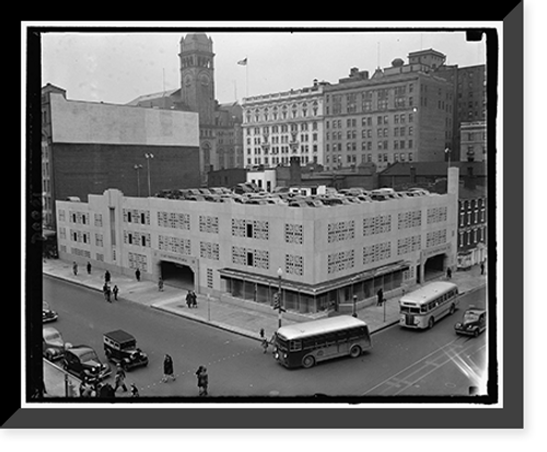
[[[318,312],[388,296],[456,264],[458,170],[446,194],[291,207],[109,189],[58,201],[61,259],[225,299]],[[316,205],[321,205],[317,203]]]

